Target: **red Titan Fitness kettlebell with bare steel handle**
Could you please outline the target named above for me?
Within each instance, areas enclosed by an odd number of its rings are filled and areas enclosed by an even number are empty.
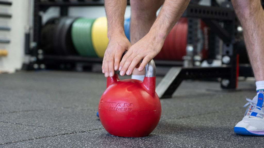
[[[119,80],[117,73],[107,78],[98,112],[107,132],[120,137],[148,136],[158,125],[161,102],[155,92],[156,67],[151,60],[143,81]]]

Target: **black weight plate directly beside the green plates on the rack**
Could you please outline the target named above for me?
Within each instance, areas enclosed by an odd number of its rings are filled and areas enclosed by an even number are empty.
[[[72,37],[71,37],[72,24],[76,19],[77,18],[67,18],[61,30],[60,45],[65,55],[76,55],[77,54],[73,46]]]

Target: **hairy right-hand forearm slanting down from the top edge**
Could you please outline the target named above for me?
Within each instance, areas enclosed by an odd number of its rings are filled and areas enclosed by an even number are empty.
[[[151,27],[149,33],[165,40],[169,31],[182,16],[190,0],[165,0],[156,21]]]

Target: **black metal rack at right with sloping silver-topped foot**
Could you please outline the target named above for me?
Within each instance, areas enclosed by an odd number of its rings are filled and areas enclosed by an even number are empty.
[[[213,32],[213,37],[217,35],[223,41],[223,66],[206,68],[172,67],[156,88],[156,92],[160,98],[172,97],[177,87],[185,79],[221,78],[221,88],[235,89],[237,87],[239,75],[236,42],[238,21],[234,10],[231,8],[219,7],[213,0],[211,1],[213,5],[210,7],[200,6],[197,3],[198,1],[192,1],[183,14],[184,17],[189,18],[188,26],[190,30],[188,31],[187,38],[189,45],[187,46],[193,49],[191,59],[194,59],[196,54],[196,34],[193,33],[192,28],[197,26],[197,18],[200,18],[210,28],[210,31]],[[232,6],[231,2],[227,1],[227,3],[229,3],[229,6]],[[209,51],[215,51],[215,48],[216,43],[210,43]]]

